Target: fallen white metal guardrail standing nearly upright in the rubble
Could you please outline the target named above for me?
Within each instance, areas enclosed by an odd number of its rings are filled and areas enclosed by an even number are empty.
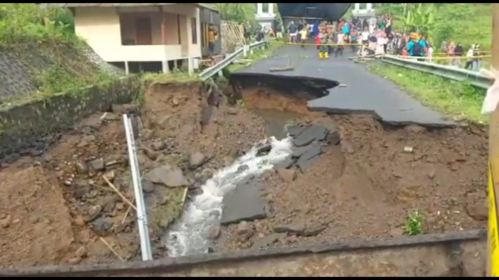
[[[147,225],[146,204],[144,201],[144,193],[142,192],[139,162],[137,160],[137,147],[135,146],[132,121],[126,114],[123,115],[123,123],[125,124],[125,135],[128,146],[128,156],[130,159],[130,171],[132,172],[132,183],[135,193],[135,204],[137,208],[137,227],[139,228],[142,260],[151,261],[153,259],[153,256],[151,251],[151,241],[149,239],[149,228]]]

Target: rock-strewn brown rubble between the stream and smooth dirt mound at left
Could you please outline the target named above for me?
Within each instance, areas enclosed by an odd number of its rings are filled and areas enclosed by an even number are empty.
[[[117,260],[108,246],[121,259],[140,259],[121,114],[133,116],[156,257],[166,255],[162,238],[182,213],[184,203],[201,192],[200,186],[216,170],[232,164],[254,142],[264,139],[264,124],[259,117],[239,106],[228,107],[224,100],[217,102],[218,107],[212,106],[208,115],[201,116],[202,108],[209,106],[205,94],[199,84],[156,86],[146,94],[141,108],[134,104],[115,105],[111,112],[76,124],[45,153],[30,153],[27,160],[15,162],[15,166],[23,168],[23,163],[31,166],[34,158],[35,164],[53,174],[61,186],[74,232],[74,246],[68,249],[69,255],[60,258],[63,262]],[[15,223],[16,219],[10,217],[1,217],[2,228],[11,228]],[[212,236],[219,234],[214,229]]]

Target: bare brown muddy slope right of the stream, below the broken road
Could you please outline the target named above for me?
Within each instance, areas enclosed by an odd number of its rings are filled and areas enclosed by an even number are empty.
[[[309,113],[272,90],[244,96],[249,108],[292,111],[301,114],[296,123],[337,130],[341,142],[324,146],[304,172],[264,174],[271,215],[222,228],[219,250],[397,237],[416,210],[423,233],[486,227],[485,128],[386,127],[370,116]]]

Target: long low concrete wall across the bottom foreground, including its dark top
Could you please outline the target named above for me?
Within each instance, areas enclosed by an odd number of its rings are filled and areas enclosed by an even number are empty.
[[[482,230],[242,250],[148,262],[0,270],[0,277],[483,277]]]

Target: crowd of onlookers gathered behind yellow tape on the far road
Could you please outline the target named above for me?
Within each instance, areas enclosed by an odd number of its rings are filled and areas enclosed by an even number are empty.
[[[420,32],[397,32],[392,30],[393,19],[386,14],[381,17],[372,17],[369,20],[341,19],[339,22],[318,21],[307,23],[305,20],[290,21],[286,28],[280,24],[275,26],[276,39],[282,38],[286,31],[289,43],[301,44],[313,40],[319,50],[319,57],[328,58],[329,55],[342,56],[346,46],[358,55],[392,54],[402,57],[415,57],[421,61],[434,62],[434,55],[444,56],[439,63],[452,66],[462,66],[469,70],[480,69],[479,44],[473,44],[465,49],[460,43],[442,42],[439,50]],[[285,29],[285,30],[284,30]],[[360,46],[365,46],[360,47]],[[437,51],[437,52],[435,52]],[[463,59],[463,56],[466,59]]]

